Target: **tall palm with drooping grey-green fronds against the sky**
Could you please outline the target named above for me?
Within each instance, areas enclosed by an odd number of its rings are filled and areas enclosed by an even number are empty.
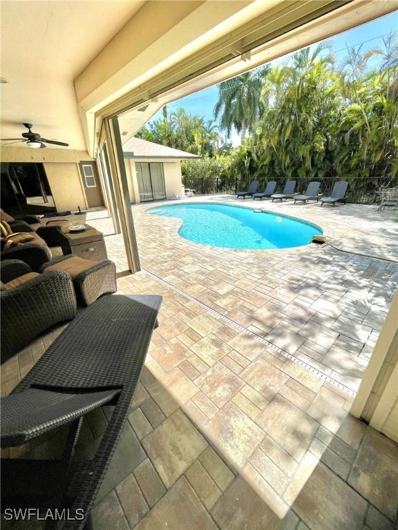
[[[220,128],[227,131],[227,136],[235,128],[240,134],[241,143],[247,130],[252,130],[260,117],[260,92],[268,71],[269,66],[256,68],[218,85],[214,116],[216,119],[220,117]]]

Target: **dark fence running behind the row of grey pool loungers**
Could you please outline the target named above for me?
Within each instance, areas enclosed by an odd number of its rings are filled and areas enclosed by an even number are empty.
[[[254,180],[254,178],[252,178]],[[259,181],[258,190],[263,190],[267,185],[267,179],[261,179],[256,177]],[[272,180],[276,181],[275,193],[281,193],[283,186],[285,186],[285,177],[274,177]],[[316,180],[316,179],[314,179]],[[328,197],[330,195],[334,182],[337,180],[334,177],[325,177],[319,179],[321,186],[319,188],[320,193]],[[302,178],[297,179],[296,191],[304,193],[307,185],[311,179]],[[385,179],[380,177],[375,178],[361,178],[361,179],[348,179],[348,191],[347,191],[347,202],[352,204],[375,204],[379,195],[376,193],[382,188],[391,188],[392,186],[398,186],[398,177],[395,179]],[[196,190],[196,195],[211,195],[214,193],[236,193],[237,190],[247,190],[249,181],[247,178],[234,178],[234,177],[211,177],[207,179],[184,179],[184,186]]]

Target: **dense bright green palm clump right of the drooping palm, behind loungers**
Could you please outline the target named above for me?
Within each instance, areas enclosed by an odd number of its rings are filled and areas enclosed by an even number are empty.
[[[262,92],[265,112],[252,140],[258,173],[306,184],[340,178],[372,193],[398,176],[397,36],[386,39],[380,70],[368,60],[382,50],[349,49],[343,65],[325,46],[274,67]]]

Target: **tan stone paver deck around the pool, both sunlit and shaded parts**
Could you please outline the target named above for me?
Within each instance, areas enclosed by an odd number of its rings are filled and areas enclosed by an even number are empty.
[[[185,200],[236,204],[231,196]],[[153,402],[143,400],[131,422],[158,493],[153,502],[144,495],[146,508],[130,513],[129,499],[142,502],[133,493],[126,498],[126,488],[142,491],[134,471],[124,477],[128,484],[117,482],[99,498],[97,528],[106,528],[105,514],[115,509],[123,521],[117,528],[138,523],[157,530],[170,518],[169,527],[183,530],[167,508],[176,495],[200,512],[201,528],[392,528],[397,444],[348,411],[397,288],[398,264],[327,245],[203,246],[178,235],[179,219],[147,214],[151,206],[133,206],[142,266],[135,275],[124,273],[124,244],[111,235],[110,219],[88,214],[88,223],[106,234],[119,292],[164,297],[146,361]],[[252,200],[244,206],[259,207]],[[375,206],[263,201],[260,207],[318,224],[335,246],[398,259],[397,221]],[[30,368],[35,351],[20,355],[20,366],[6,367],[3,392]],[[168,429],[184,432],[189,424],[198,433],[193,453],[174,464],[172,454],[161,458],[156,448],[167,444]],[[231,478],[225,489],[207,478],[200,460],[209,442],[231,473],[221,467]],[[236,504],[243,518],[233,513]]]

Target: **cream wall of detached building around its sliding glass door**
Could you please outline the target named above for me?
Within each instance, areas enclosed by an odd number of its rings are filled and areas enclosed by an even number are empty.
[[[142,158],[137,157],[125,158],[124,166],[126,167],[127,182],[129,185],[129,195],[131,202],[139,204],[140,191],[138,190],[137,173],[135,162],[155,162],[163,164],[164,173],[164,188],[166,191],[166,198],[181,196],[182,194],[182,176],[181,176],[181,161],[178,159],[158,159],[158,158]]]

